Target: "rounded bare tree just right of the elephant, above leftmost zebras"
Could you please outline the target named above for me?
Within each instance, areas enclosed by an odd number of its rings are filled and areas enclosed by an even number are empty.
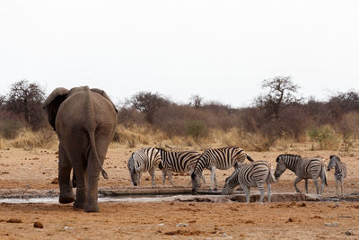
[[[164,106],[170,104],[170,101],[159,93],[140,92],[133,95],[128,101],[136,110],[144,113],[144,119],[153,123],[154,114]]]

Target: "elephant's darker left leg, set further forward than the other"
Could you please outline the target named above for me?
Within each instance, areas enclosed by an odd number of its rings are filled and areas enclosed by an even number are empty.
[[[60,187],[58,201],[60,203],[71,203],[74,202],[74,191],[72,183],[70,182],[72,167],[61,145],[58,149],[58,155],[58,185]]]

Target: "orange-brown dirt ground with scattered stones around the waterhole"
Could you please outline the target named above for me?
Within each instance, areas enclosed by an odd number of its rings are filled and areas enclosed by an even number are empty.
[[[137,147],[138,148],[138,147]],[[345,193],[358,191],[358,149],[350,152],[311,151],[311,144],[284,151],[250,152],[255,160],[267,160],[276,167],[276,156],[338,155],[346,162]],[[101,188],[130,186],[127,159],[131,149],[111,146],[105,161],[109,180],[100,179]],[[5,149],[0,151],[0,189],[57,190],[57,149]],[[205,172],[209,182],[209,172]],[[219,187],[232,173],[217,170]],[[162,173],[156,172],[157,187]],[[272,185],[273,192],[293,192],[294,174],[285,172]],[[174,174],[173,181],[187,185],[189,175]],[[143,186],[151,186],[144,173]],[[169,182],[166,182],[169,185]],[[304,189],[304,183],[298,184]],[[204,186],[208,188],[208,184]],[[310,181],[310,193],[315,188]],[[333,172],[328,172],[325,196],[335,195]],[[359,202],[274,202],[260,205],[241,202],[150,202],[100,203],[100,213],[72,209],[71,204],[0,204],[0,239],[357,239]],[[40,222],[43,228],[34,227]]]

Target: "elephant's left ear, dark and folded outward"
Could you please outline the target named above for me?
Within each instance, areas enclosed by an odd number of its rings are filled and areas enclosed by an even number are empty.
[[[48,113],[48,122],[55,130],[55,120],[57,116],[58,108],[61,103],[66,100],[68,90],[64,87],[57,87],[52,93],[48,95],[42,106],[43,110]]]

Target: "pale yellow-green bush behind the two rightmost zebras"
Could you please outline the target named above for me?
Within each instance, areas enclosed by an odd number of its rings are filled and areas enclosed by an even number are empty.
[[[308,130],[311,140],[319,143],[320,150],[335,150],[339,143],[336,133],[328,126]],[[314,146],[312,147],[314,150]]]

